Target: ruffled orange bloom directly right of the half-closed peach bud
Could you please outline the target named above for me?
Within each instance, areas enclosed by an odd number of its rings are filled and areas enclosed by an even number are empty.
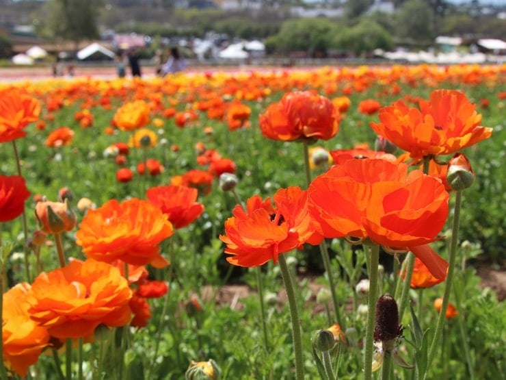
[[[173,231],[167,216],[149,201],[111,199],[88,210],[76,233],[76,244],[85,255],[102,262],[121,259],[127,264],[163,268],[168,262],[159,244]]]

